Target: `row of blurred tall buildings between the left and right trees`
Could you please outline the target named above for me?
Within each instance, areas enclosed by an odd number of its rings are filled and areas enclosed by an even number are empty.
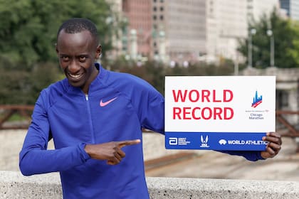
[[[127,58],[163,63],[238,60],[238,39],[248,37],[248,22],[279,8],[279,0],[107,0],[117,1],[127,28],[122,51]]]

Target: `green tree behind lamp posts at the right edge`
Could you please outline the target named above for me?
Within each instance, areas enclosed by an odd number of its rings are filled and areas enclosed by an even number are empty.
[[[274,37],[275,65],[278,68],[298,68],[299,65],[299,28],[298,24],[290,19],[281,18],[276,9],[269,16],[264,14],[259,21],[251,21],[248,30],[256,29],[252,36],[252,64],[256,68],[270,66],[270,36],[267,31],[271,29]],[[238,51],[248,58],[248,39],[239,41]],[[247,60],[248,61],[248,60]]]

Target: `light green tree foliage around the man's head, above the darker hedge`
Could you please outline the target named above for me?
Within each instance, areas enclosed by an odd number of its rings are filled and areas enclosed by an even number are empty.
[[[1,56],[28,68],[38,62],[56,61],[58,27],[71,17],[90,18],[98,26],[105,48],[110,48],[107,31],[111,27],[106,23],[112,14],[109,8],[105,1],[1,0]]]

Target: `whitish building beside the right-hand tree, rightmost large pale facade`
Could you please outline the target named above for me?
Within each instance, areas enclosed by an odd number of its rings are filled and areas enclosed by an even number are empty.
[[[248,23],[279,8],[278,0],[208,0],[207,57],[210,60],[238,55],[238,40],[248,37]],[[214,13],[214,14],[213,14]],[[212,38],[211,38],[212,37]],[[210,39],[209,39],[210,38]]]

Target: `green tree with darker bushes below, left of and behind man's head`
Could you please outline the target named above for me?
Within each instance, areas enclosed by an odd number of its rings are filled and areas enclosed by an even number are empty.
[[[105,0],[0,0],[0,103],[32,104],[59,78],[56,33],[68,18],[95,22],[104,59],[117,32],[117,23],[111,23],[115,16]]]

